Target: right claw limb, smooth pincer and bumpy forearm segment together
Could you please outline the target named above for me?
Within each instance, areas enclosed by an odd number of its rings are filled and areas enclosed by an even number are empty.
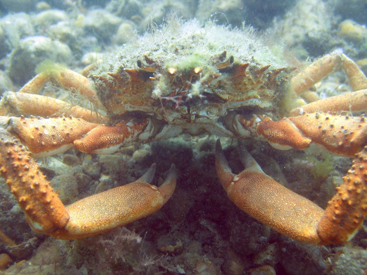
[[[297,241],[325,245],[350,240],[367,214],[367,146],[356,155],[351,169],[324,211],[262,172],[243,148],[246,169],[231,172],[221,144],[215,147],[215,167],[228,197],[244,212]]]

